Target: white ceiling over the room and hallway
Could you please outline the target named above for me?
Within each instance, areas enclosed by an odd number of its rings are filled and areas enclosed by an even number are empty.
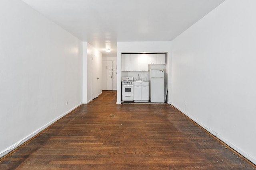
[[[102,56],[117,41],[172,41],[224,0],[23,0]],[[112,51],[106,53],[106,45]]]

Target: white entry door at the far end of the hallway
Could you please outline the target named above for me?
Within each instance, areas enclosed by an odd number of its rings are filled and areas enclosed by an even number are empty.
[[[113,90],[113,61],[102,61],[102,90]]]

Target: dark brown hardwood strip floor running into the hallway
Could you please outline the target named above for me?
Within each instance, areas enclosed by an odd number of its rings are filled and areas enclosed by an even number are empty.
[[[115,91],[103,91],[0,162],[1,170],[253,168],[170,105],[116,105]]]

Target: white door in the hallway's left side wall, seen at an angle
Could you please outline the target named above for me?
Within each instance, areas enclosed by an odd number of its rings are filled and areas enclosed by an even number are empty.
[[[98,97],[98,74],[97,74],[97,60],[96,56],[92,54],[92,99]]]

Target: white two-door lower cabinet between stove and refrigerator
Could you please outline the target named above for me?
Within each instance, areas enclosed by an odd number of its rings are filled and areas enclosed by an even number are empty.
[[[148,81],[134,82],[134,102],[148,102]]]

